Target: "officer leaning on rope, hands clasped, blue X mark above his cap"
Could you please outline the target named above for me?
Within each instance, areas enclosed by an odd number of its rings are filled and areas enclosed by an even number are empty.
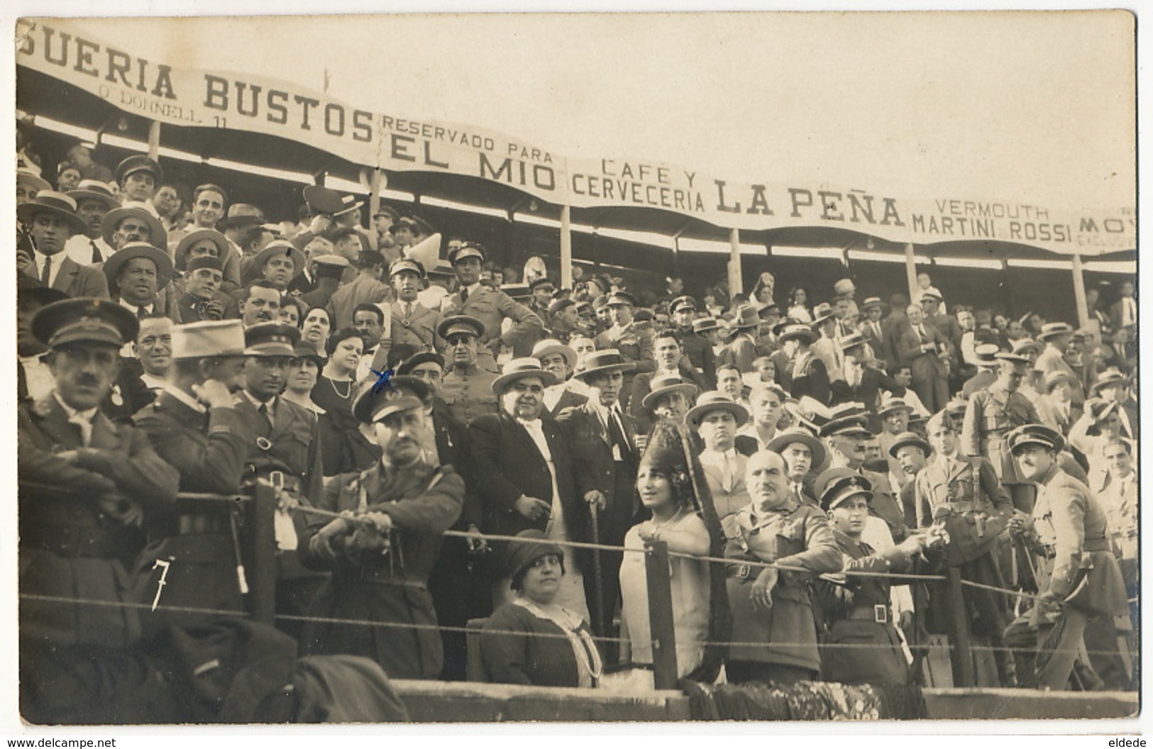
[[[431,419],[413,393],[431,391],[408,379],[405,388],[369,383],[357,394],[353,415],[372,426],[380,460],[326,487],[321,508],[352,517],[315,519],[301,536],[304,566],[332,572],[312,606],[304,651],[364,656],[392,679],[436,679],[444,657],[428,577],[440,535],[460,516],[465,482],[427,447]]]

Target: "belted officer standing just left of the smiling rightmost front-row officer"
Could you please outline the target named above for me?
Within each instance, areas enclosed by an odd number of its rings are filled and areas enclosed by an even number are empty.
[[[925,426],[934,460],[914,479],[914,501],[918,507],[927,507],[932,516],[919,517],[919,524],[937,525],[947,531],[944,562],[959,568],[962,580],[1004,588],[997,554],[1000,536],[1012,516],[1009,494],[988,459],[960,454],[952,419],[944,411],[934,414]],[[939,585],[932,587],[933,593],[939,593],[942,602],[948,600]],[[970,630],[988,640],[992,646],[1001,648],[1009,615],[1005,596],[970,585],[965,585],[962,593]],[[1001,686],[1016,686],[1017,673],[1009,653],[994,650],[993,657]]]

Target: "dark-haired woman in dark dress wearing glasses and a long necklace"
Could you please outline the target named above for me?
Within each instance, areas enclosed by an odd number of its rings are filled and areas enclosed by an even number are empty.
[[[312,402],[324,409],[319,415],[324,475],[361,471],[380,457],[380,449],[360,431],[360,423],[353,416],[356,365],[364,341],[356,328],[342,327],[329,336],[325,351],[329,363],[312,388]]]

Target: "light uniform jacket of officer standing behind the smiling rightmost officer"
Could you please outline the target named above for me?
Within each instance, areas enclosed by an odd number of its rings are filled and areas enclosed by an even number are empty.
[[[1024,483],[1005,436],[1010,430],[1040,421],[1027,398],[1009,393],[998,383],[993,383],[969,399],[960,430],[960,452],[988,457],[1002,484]]]

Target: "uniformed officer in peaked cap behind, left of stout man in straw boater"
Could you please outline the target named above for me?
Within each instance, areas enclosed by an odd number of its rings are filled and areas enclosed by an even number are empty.
[[[496,373],[480,364],[477,349],[484,338],[484,324],[475,317],[457,315],[442,320],[437,333],[447,345],[451,369],[440,383],[440,398],[458,422],[468,425],[477,416],[497,413],[492,393]]]

